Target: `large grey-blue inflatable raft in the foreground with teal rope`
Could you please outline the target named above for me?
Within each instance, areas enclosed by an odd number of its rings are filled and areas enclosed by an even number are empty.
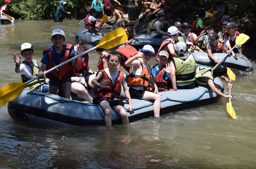
[[[216,87],[223,92],[224,86],[220,78],[215,78],[214,82]],[[208,85],[162,93],[161,116],[184,109],[215,104],[221,98],[221,96],[212,92]],[[127,108],[127,101],[124,100],[124,104],[124,108]],[[152,101],[132,99],[132,104],[133,112],[126,109],[129,122],[154,116]],[[24,89],[17,98],[8,103],[8,113],[15,120],[44,127],[105,124],[104,112],[99,105],[69,100],[57,95],[29,89]],[[122,123],[120,117],[112,110],[112,124],[120,123]]]

